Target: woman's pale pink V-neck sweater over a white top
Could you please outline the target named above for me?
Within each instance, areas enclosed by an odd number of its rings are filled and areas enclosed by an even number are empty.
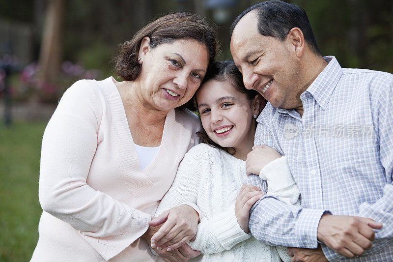
[[[81,80],[45,129],[39,180],[44,210],[31,261],[157,261],[139,237],[197,144],[189,111],[168,113],[155,159],[140,171],[112,78]],[[148,135],[148,134],[146,134]]]

